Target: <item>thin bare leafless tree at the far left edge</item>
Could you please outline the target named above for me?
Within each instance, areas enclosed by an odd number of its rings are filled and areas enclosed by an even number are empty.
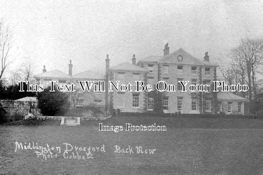
[[[14,61],[11,59],[10,50],[12,48],[12,32],[0,21],[0,81],[3,72]]]

